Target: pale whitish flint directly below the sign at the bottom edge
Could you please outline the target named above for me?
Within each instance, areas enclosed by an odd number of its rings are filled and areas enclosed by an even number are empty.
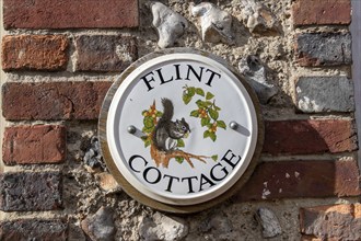
[[[139,225],[141,240],[180,240],[188,234],[188,225],[184,219],[167,217],[155,213],[152,218],[145,217]]]

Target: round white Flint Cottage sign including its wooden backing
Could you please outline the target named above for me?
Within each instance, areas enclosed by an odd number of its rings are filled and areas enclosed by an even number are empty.
[[[130,196],[184,213],[243,184],[263,139],[244,81],[223,60],[190,49],[130,66],[107,93],[100,133],[105,161]]]

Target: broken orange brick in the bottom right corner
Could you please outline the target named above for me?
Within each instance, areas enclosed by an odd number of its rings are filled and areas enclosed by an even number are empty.
[[[318,206],[300,209],[301,232],[319,240],[361,240],[361,204]]]

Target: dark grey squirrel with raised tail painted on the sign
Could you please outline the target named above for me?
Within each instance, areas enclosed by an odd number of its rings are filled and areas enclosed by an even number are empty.
[[[190,133],[188,123],[182,118],[172,120],[174,114],[174,106],[171,100],[162,99],[163,115],[158,122],[154,135],[153,145],[160,151],[173,151],[177,146],[177,139],[185,137]]]

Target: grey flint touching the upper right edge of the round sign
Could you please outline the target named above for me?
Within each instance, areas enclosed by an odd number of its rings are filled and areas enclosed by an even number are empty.
[[[255,90],[261,104],[267,104],[278,93],[278,88],[267,81],[266,68],[256,56],[249,55],[247,58],[242,59],[238,69]]]

